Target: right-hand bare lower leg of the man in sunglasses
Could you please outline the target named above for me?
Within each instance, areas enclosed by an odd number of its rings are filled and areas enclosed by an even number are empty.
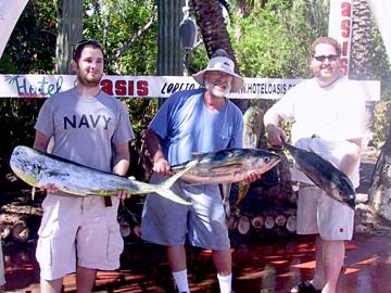
[[[336,293],[337,282],[344,259],[344,241],[323,241],[325,263],[325,286],[323,293]]]

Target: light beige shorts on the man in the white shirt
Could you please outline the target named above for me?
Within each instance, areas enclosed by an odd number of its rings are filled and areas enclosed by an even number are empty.
[[[298,234],[320,234],[325,240],[351,240],[354,211],[317,187],[299,190]]]

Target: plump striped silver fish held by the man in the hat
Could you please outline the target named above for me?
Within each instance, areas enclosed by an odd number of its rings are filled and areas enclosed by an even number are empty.
[[[227,149],[198,155],[191,161],[172,166],[172,171],[177,174],[189,169],[181,178],[193,184],[225,184],[241,181],[252,173],[264,174],[278,162],[279,155],[267,151]]]

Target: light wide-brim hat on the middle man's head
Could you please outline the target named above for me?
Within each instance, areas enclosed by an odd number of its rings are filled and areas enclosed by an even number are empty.
[[[226,74],[231,75],[232,84],[231,84],[231,91],[240,90],[244,85],[244,79],[240,75],[235,73],[235,64],[229,58],[225,56],[216,56],[210,60],[207,63],[207,67],[203,71],[193,74],[192,77],[199,82],[201,86],[204,85],[205,73],[206,72],[223,72]]]

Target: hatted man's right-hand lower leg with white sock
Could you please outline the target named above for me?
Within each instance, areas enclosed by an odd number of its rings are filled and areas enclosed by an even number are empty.
[[[213,262],[217,270],[220,293],[229,293],[232,288],[232,256],[230,250],[213,251]]]

